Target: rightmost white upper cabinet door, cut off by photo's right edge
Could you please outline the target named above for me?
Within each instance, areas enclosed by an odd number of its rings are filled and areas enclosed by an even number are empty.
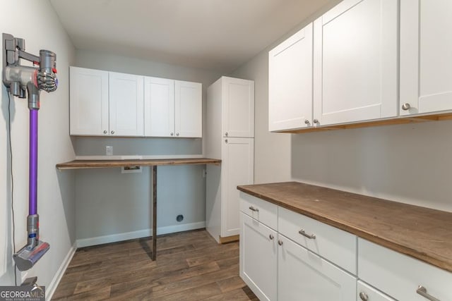
[[[400,115],[452,109],[452,1],[400,1]]]

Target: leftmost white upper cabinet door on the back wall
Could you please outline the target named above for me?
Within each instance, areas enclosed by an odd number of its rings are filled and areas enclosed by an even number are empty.
[[[108,72],[71,67],[71,135],[108,135]]]

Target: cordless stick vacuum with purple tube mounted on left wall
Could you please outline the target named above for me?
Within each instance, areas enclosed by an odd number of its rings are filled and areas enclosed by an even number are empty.
[[[37,214],[37,111],[40,109],[40,90],[57,90],[57,55],[52,51],[40,50],[40,56],[25,52],[25,41],[12,35],[3,34],[3,82],[8,92],[19,98],[28,94],[30,110],[30,170],[29,199],[27,217],[27,245],[13,258],[20,271],[32,266],[47,252],[50,245],[39,238],[39,215]],[[20,59],[38,65],[38,68],[20,66]]]

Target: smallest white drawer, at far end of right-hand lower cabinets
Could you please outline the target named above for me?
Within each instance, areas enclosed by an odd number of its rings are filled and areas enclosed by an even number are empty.
[[[240,192],[240,211],[266,226],[278,230],[278,206],[244,192]]]

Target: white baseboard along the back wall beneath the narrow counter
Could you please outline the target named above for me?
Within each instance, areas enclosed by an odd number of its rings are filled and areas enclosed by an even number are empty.
[[[194,229],[206,228],[206,221],[197,223],[183,223],[182,225],[158,227],[157,235],[175,233],[181,231],[189,231]],[[118,242],[121,240],[132,240],[136,238],[145,238],[153,235],[153,229],[144,229],[133,232],[117,233],[112,235],[97,236],[95,238],[83,238],[77,240],[77,247],[88,247],[90,245],[102,245],[109,242]]]

